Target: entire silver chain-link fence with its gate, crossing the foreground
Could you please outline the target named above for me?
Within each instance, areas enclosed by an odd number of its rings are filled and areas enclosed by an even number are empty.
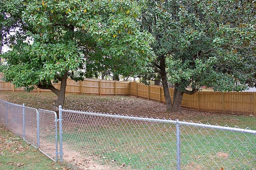
[[[256,169],[256,131],[248,128],[61,108],[56,119],[2,100],[0,123],[73,169]]]

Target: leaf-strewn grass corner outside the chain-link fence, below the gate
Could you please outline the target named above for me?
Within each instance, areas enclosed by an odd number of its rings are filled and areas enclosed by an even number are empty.
[[[0,170],[65,169],[0,125]]]

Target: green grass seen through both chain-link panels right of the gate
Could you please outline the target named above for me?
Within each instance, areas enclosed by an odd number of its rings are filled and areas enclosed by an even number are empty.
[[[64,144],[72,144],[77,152],[96,155],[102,164],[125,164],[138,170],[176,169],[175,125],[118,123],[90,128],[80,125],[75,129],[66,131],[64,127]],[[250,170],[256,167],[255,143],[253,135],[183,127],[182,169],[193,169],[194,164],[199,169],[243,166]]]

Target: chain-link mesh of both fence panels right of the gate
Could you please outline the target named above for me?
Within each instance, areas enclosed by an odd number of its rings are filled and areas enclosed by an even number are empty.
[[[73,169],[177,167],[175,121],[71,110],[63,110],[62,118],[63,159]],[[255,133],[182,124],[182,170],[256,169]]]

